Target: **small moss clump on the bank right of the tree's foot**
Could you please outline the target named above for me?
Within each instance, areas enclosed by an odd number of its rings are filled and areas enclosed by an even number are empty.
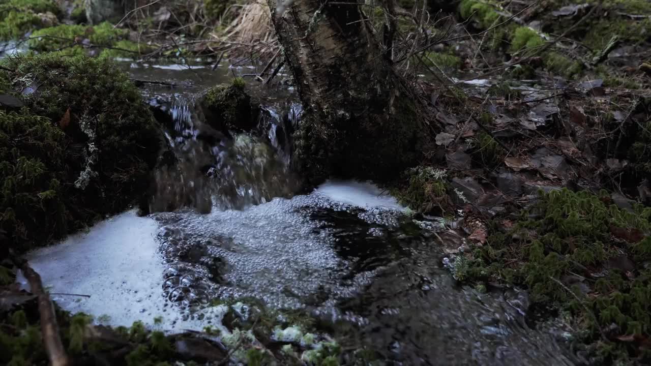
[[[418,166],[403,173],[402,184],[393,188],[393,195],[400,203],[418,212],[432,212],[447,208],[448,183],[445,171],[434,167]]]

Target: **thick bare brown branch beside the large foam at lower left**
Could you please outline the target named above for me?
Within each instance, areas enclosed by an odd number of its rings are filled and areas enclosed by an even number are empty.
[[[54,306],[49,300],[48,293],[43,289],[40,275],[36,273],[31,266],[25,261],[20,266],[23,275],[29,282],[31,292],[38,296],[38,313],[40,313],[41,333],[46,353],[48,354],[49,364],[51,366],[68,366],[70,359],[61,343],[59,335],[59,326],[57,318],[54,315]]]

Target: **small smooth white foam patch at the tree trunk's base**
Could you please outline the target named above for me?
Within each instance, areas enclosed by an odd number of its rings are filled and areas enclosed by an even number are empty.
[[[398,204],[395,197],[378,186],[369,182],[328,180],[318,186],[314,193],[324,195],[331,201],[350,204],[359,208],[387,208],[389,210],[404,211],[405,207]]]

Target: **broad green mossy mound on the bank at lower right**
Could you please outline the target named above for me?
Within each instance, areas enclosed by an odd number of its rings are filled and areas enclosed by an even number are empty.
[[[467,262],[471,279],[526,285],[534,302],[570,312],[605,363],[650,361],[651,208],[604,193],[541,194],[518,221],[495,220]]]

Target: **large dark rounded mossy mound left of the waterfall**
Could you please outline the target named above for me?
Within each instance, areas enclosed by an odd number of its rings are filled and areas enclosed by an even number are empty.
[[[3,66],[26,106],[0,115],[0,229],[16,250],[120,212],[145,191],[159,132],[117,66],[52,54]]]

